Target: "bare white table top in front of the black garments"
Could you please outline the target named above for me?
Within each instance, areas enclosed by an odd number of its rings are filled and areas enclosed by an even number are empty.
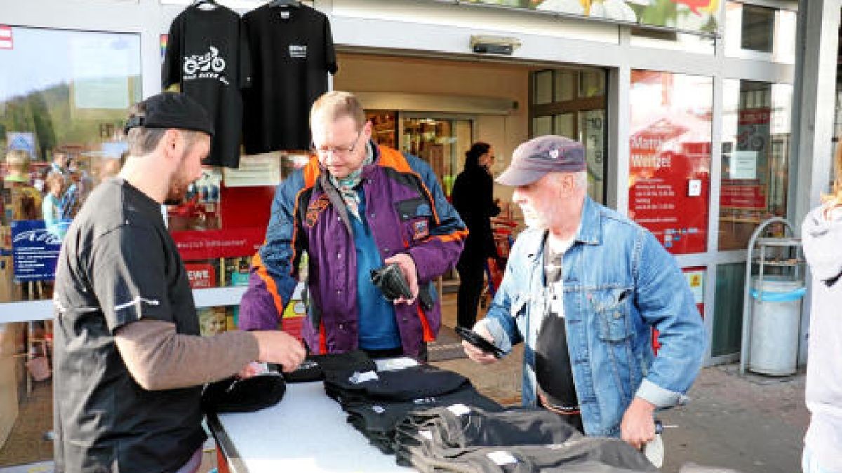
[[[217,417],[219,423],[210,419],[210,428],[232,472],[412,471],[345,422],[346,414],[321,381],[286,385],[274,407]]]

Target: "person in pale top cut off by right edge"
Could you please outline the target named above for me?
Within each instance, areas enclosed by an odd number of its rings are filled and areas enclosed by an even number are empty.
[[[842,471],[842,146],[837,146],[833,191],[802,224],[804,256],[813,274],[804,397],[810,427],[804,437],[805,473]]]

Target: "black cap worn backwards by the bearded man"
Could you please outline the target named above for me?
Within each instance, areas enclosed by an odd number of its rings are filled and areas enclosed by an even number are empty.
[[[213,136],[213,122],[205,108],[184,93],[157,93],[142,101],[144,116],[133,116],[125,124],[125,132],[136,126],[144,128],[178,128],[201,131]]]

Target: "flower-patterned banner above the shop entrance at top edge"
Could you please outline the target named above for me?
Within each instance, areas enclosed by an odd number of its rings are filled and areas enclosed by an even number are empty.
[[[713,35],[717,32],[720,3],[719,0],[468,0],[468,2],[652,25],[703,35]]]

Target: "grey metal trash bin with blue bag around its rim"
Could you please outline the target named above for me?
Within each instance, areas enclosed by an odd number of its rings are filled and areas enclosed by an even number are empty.
[[[798,364],[801,302],[807,288],[799,279],[774,276],[752,281],[749,369],[762,375],[792,375]]]

